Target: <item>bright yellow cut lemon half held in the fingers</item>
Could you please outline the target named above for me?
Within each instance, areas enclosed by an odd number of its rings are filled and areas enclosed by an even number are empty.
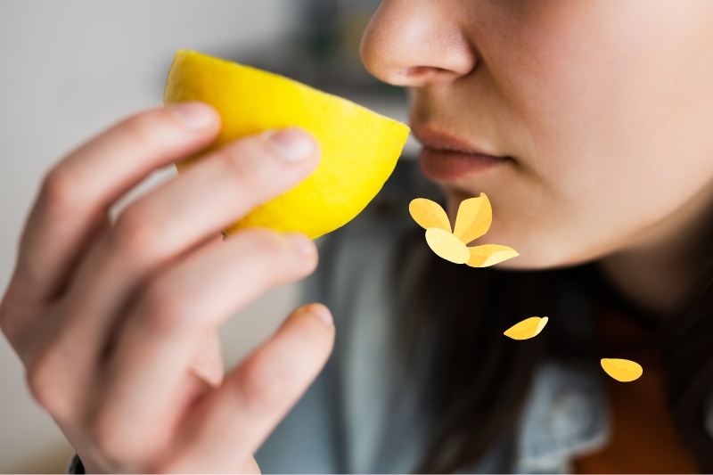
[[[315,239],[356,217],[391,175],[409,129],[362,106],[266,71],[179,50],[164,102],[207,102],[223,120],[204,155],[245,135],[297,126],[322,148],[316,171],[282,196],[254,209],[225,233],[244,227],[299,231]],[[194,157],[177,164],[184,166]]]

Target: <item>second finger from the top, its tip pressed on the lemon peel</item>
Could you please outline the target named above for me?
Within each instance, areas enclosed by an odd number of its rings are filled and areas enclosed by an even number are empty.
[[[129,205],[78,270],[64,302],[69,316],[53,341],[53,353],[62,357],[51,373],[76,375],[65,384],[82,388],[119,312],[153,271],[299,183],[318,160],[316,142],[299,129],[255,135]]]

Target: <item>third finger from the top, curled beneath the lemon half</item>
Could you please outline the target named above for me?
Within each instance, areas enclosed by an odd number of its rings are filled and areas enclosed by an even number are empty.
[[[155,277],[127,318],[102,381],[101,406],[89,414],[111,446],[141,458],[147,447],[132,433],[152,432],[159,445],[184,411],[188,368],[207,329],[271,287],[316,266],[307,238],[245,230],[195,252]],[[163,423],[161,423],[163,422]],[[148,451],[148,452],[144,452]]]

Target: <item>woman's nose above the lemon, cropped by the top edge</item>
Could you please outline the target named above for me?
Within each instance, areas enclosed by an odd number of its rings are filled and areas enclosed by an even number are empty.
[[[448,0],[384,0],[362,38],[362,61],[395,86],[426,86],[475,69],[475,48]]]

